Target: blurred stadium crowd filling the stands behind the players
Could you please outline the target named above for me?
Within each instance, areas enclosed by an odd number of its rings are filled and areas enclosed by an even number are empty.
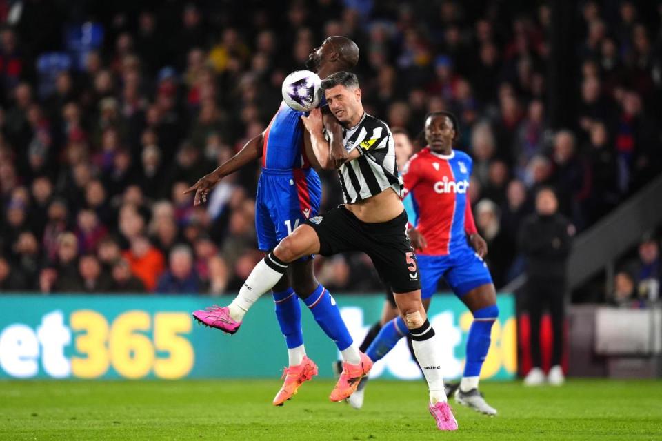
[[[265,129],[285,76],[335,34],[361,49],[366,110],[415,146],[427,112],[459,117],[500,287],[522,271],[536,189],[581,231],[661,171],[653,3],[581,2],[579,117],[552,130],[545,2],[0,1],[0,290],[237,289],[261,258],[259,164],[202,207],[183,191]],[[341,191],[322,178],[326,209]],[[317,265],[332,291],[381,289],[363,255]]]

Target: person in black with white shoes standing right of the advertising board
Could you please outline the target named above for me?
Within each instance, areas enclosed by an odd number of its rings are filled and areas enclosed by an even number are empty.
[[[526,263],[526,296],[531,323],[531,356],[533,369],[524,382],[538,385],[545,381],[541,369],[540,322],[547,306],[552,317],[554,351],[552,369],[547,380],[561,385],[565,380],[561,369],[563,354],[563,319],[565,316],[565,262],[570,253],[574,226],[558,213],[559,202],[551,188],[543,187],[536,194],[536,213],[525,218],[519,247]]]

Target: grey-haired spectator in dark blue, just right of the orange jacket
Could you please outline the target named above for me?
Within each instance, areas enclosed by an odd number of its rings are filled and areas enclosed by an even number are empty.
[[[186,245],[177,245],[169,256],[168,271],[165,271],[159,284],[159,294],[197,294],[201,283],[193,267],[193,254]]]

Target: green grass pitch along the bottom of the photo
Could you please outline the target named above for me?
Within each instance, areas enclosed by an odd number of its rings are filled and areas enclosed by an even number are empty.
[[[314,380],[272,407],[277,380],[2,381],[1,440],[662,440],[662,382],[570,380],[481,389],[499,416],[453,404],[441,433],[423,382],[373,381],[360,411]]]

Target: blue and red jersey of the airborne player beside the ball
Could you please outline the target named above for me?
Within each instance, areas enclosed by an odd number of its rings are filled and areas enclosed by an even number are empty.
[[[310,162],[303,147],[303,122],[305,112],[292,110],[281,101],[281,107],[264,132],[262,167],[272,170],[309,168]]]

